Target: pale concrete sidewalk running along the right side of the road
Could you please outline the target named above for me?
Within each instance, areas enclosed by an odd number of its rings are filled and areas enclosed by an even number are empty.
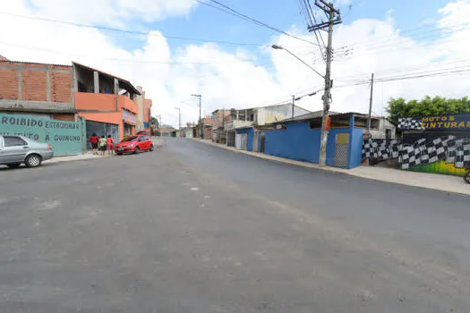
[[[243,153],[252,157],[260,157],[266,160],[280,162],[290,165],[298,165],[303,167],[314,168],[323,171],[336,172],[336,173],[345,173],[347,175],[362,177],[366,179],[376,180],[380,182],[392,182],[398,183],[406,186],[413,186],[431,190],[440,190],[445,192],[454,192],[461,193],[465,195],[470,195],[470,185],[466,184],[461,177],[449,176],[449,175],[440,175],[434,173],[416,173],[416,172],[407,172],[407,171],[398,171],[392,168],[384,167],[374,167],[374,166],[360,166],[353,168],[351,170],[332,167],[332,166],[320,166],[308,162],[295,161],[283,157],[273,157],[265,155],[258,152],[250,152],[237,150],[232,147],[226,147],[218,143],[214,143],[210,140],[199,140],[194,139],[203,143],[206,143],[211,146],[218,148],[225,148],[236,153]]]

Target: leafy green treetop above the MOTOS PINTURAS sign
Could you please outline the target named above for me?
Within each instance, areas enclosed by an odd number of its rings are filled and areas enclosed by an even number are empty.
[[[470,99],[468,97],[447,99],[426,96],[421,101],[406,102],[403,97],[392,98],[387,106],[387,113],[389,119],[395,123],[400,117],[470,113]]]

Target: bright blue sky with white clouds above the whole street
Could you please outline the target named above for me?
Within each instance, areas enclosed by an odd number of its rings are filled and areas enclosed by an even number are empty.
[[[202,112],[210,114],[319,91],[296,105],[320,110],[320,75],[270,48],[281,45],[325,72],[298,0],[218,2],[297,38],[222,12],[213,0],[0,0],[0,55],[23,62],[75,61],[123,77],[142,86],[153,100],[152,114],[174,126],[175,107],[183,124],[197,122],[192,94],[202,95]],[[334,3],[343,23],[333,34],[332,111],[366,113],[372,72],[375,115],[386,114],[390,98],[468,95],[470,0]],[[315,16],[325,20],[318,10]],[[322,46],[327,37],[320,34]]]

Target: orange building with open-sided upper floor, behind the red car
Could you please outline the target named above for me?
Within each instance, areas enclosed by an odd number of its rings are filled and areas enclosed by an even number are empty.
[[[75,109],[87,120],[87,138],[111,135],[115,141],[135,134],[141,92],[129,80],[73,63]]]

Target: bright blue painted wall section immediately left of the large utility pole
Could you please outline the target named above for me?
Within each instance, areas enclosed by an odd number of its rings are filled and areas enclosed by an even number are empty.
[[[298,161],[319,163],[319,129],[310,129],[310,123],[288,123],[286,130],[266,131],[265,153]]]

